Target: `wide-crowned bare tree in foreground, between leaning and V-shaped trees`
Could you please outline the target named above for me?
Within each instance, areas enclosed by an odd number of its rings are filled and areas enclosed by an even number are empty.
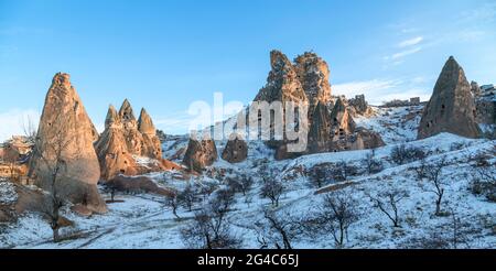
[[[358,220],[356,206],[357,203],[347,193],[326,195],[317,210],[305,219],[305,232],[311,236],[331,232],[335,245],[343,247],[349,226]]]

